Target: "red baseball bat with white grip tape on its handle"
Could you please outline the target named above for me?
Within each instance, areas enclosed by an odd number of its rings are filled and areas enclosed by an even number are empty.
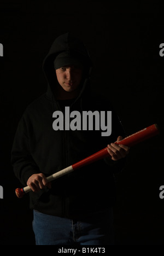
[[[122,139],[121,141],[116,141],[114,143],[115,144],[123,144],[125,146],[132,147],[142,141],[145,141],[145,139],[153,137],[157,134],[159,134],[159,129],[157,127],[157,124],[153,124],[153,125],[146,127],[143,130],[133,133],[132,135]],[[79,169],[80,167],[91,164],[92,162],[95,162],[99,159],[105,158],[106,156],[109,156],[107,149],[108,149],[108,147],[103,148],[102,150],[96,152],[95,154],[90,155],[87,158],[85,158],[79,162],[76,162],[75,164],[68,166],[61,171],[58,171],[58,172],[50,175],[49,177],[46,177],[46,179],[48,180],[48,182],[53,181],[54,179],[60,178],[65,174],[68,174],[70,172],[73,172],[73,171]],[[31,190],[32,189],[29,186],[27,186],[25,188],[17,188],[15,190],[15,194],[17,197],[21,198],[22,196],[24,196],[24,194],[30,192]]]

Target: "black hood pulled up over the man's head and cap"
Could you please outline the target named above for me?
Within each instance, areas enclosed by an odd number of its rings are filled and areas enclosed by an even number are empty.
[[[46,80],[48,81],[48,91],[46,95],[49,98],[52,98],[52,96],[54,96],[53,88],[57,83],[54,60],[56,59],[56,56],[58,54],[63,53],[63,51],[71,51],[71,53],[73,53],[74,55],[80,55],[85,60],[84,78],[83,86],[81,87],[81,93],[82,91],[84,91],[89,81],[92,62],[85,45],[79,38],[75,37],[73,34],[69,32],[62,34],[61,36],[55,39],[54,43],[52,43],[49,53],[48,55],[46,55],[43,61],[43,71]]]

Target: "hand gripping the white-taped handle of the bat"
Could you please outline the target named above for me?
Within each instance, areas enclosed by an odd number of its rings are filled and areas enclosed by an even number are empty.
[[[28,178],[27,185],[33,192],[38,192],[45,187],[51,188],[51,183],[47,181],[43,173],[32,174],[32,176]]]

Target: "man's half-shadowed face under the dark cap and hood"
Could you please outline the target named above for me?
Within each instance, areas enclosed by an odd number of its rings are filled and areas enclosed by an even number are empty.
[[[83,69],[78,66],[64,66],[56,69],[56,77],[58,83],[63,90],[73,92],[76,90],[81,82]]]

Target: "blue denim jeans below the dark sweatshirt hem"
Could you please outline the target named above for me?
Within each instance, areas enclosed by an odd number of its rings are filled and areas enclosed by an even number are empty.
[[[94,223],[33,211],[36,245],[113,245],[113,210],[92,214]]]

